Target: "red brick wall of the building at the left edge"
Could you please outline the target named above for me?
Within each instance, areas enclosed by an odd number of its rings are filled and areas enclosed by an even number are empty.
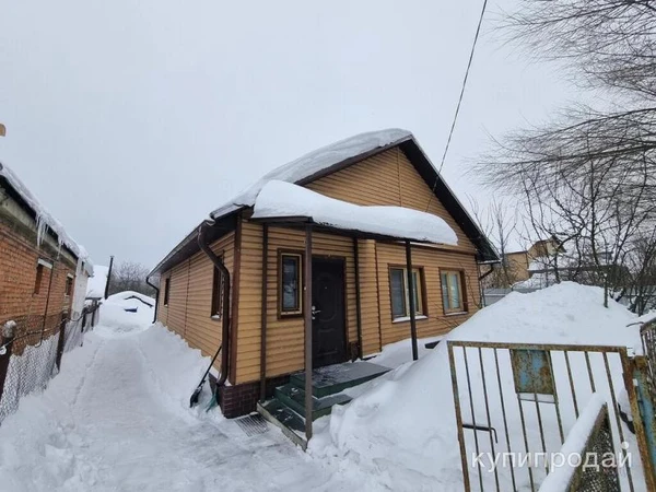
[[[65,295],[66,280],[68,274],[75,274],[75,266],[68,259],[56,260],[54,256],[51,248],[45,245],[37,248],[35,242],[24,237],[20,231],[0,223],[0,326],[13,319],[19,325],[16,336],[20,336],[40,330],[46,315],[47,335],[57,330],[61,313],[70,312],[73,296]],[[54,263],[54,268],[44,268],[39,293],[35,294],[39,258]],[[38,343],[39,339],[35,336],[17,341],[13,353],[21,353],[25,344]]]

